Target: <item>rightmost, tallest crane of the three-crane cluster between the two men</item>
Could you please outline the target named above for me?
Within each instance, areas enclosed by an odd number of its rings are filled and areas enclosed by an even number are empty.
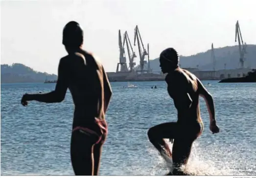
[[[136,45],[136,39],[137,39],[137,43],[138,43],[138,47],[139,47],[139,53],[140,53],[140,72],[143,73],[144,63],[147,63],[147,61],[144,60],[145,55],[147,55],[147,51],[145,50],[143,42],[141,40],[138,25],[136,25],[136,27],[134,29],[134,45]],[[140,47],[140,42],[141,42],[141,45],[142,45],[142,51],[141,51],[141,47]]]

